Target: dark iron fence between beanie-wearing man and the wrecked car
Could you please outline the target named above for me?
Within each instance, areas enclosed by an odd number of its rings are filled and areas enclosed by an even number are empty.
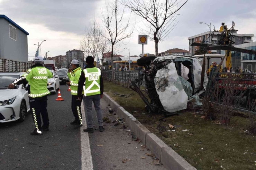
[[[142,70],[135,70],[135,71],[114,71],[114,78],[115,82],[122,83],[122,86],[129,87],[131,81],[135,79],[139,80],[140,86],[145,86],[145,80],[141,80]],[[104,80],[112,81],[112,71],[111,70],[103,70],[102,76]]]

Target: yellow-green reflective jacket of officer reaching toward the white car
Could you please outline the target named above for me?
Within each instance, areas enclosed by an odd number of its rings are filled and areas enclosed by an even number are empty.
[[[28,94],[28,97],[36,98],[50,94],[49,90],[47,89],[47,80],[52,78],[53,74],[47,68],[34,67],[32,69],[28,69],[28,71],[22,76],[30,85],[30,94]],[[15,83],[15,81],[13,83]]]

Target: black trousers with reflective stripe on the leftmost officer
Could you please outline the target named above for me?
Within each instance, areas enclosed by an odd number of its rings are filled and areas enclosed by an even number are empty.
[[[43,97],[36,97],[29,99],[30,110],[32,111],[32,117],[35,123],[35,128],[39,130],[41,128],[42,122],[40,113],[43,118],[44,128],[49,128],[49,118],[47,112],[47,95]]]

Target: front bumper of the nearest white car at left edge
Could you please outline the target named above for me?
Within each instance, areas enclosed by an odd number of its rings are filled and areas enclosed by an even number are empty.
[[[20,112],[20,100],[15,99],[12,104],[0,106],[0,123],[18,120]]]

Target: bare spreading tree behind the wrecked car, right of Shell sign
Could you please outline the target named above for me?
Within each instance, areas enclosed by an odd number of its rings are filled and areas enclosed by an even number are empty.
[[[158,55],[158,42],[163,41],[176,26],[176,14],[188,0],[180,7],[178,0],[123,0],[124,4],[136,15],[147,21],[149,30],[141,29],[150,40],[155,42],[155,54]],[[146,24],[145,24],[146,25]]]

